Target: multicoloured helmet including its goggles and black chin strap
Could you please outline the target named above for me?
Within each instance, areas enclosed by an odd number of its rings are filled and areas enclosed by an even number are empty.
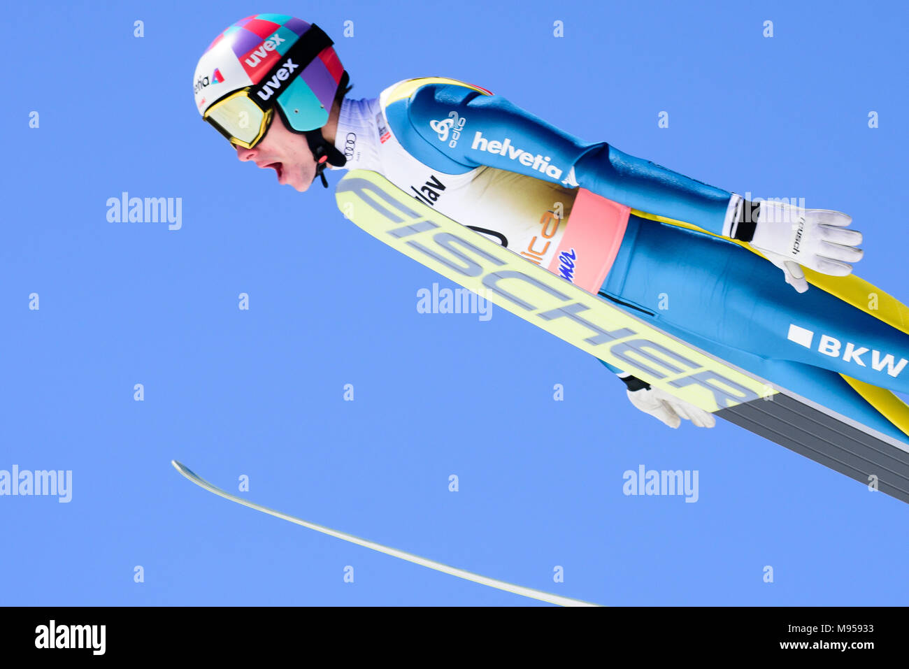
[[[306,135],[325,183],[326,162],[345,164],[318,132],[349,81],[332,44],[319,26],[294,16],[247,16],[215,37],[195,66],[196,109],[247,148],[262,139],[275,112],[282,115],[289,130]]]

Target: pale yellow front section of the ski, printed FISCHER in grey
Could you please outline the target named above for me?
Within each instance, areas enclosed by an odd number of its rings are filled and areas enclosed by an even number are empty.
[[[335,191],[345,217],[494,305],[669,394],[716,411],[774,394],[763,379],[668,335],[417,201],[353,170]]]

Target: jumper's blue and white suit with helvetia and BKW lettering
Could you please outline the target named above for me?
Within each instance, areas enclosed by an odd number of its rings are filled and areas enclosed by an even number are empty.
[[[785,284],[729,237],[740,195],[438,77],[345,99],[335,145],[345,169],[378,172],[664,332],[836,411],[864,413],[861,400],[843,399],[840,374],[909,393],[906,328],[827,290]],[[876,413],[867,421],[890,427]]]

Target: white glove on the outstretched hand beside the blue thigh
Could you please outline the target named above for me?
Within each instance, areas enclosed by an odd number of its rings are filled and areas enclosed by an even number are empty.
[[[802,209],[780,202],[760,203],[754,238],[750,244],[783,270],[786,283],[799,293],[808,290],[802,267],[824,275],[845,276],[852,272],[864,252],[862,233],[846,230],[852,216],[832,209]]]

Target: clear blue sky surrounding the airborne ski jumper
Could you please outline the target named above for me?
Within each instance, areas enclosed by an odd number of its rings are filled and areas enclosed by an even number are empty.
[[[601,604],[906,603],[905,504],[732,424],[669,430],[503,310],[418,314],[417,290],[451,284],[331,191],[237,162],[190,82],[260,11],[333,35],[355,97],[452,76],[708,184],[845,211],[865,235],[856,274],[909,300],[903,5],[11,5],[0,469],[72,470],[73,499],[0,497],[0,604],[540,605],[230,504],[171,458],[234,491],[248,476],[285,513]],[[108,222],[123,191],[182,198],[182,228]],[[697,470],[698,502],[625,496],[640,464]]]

